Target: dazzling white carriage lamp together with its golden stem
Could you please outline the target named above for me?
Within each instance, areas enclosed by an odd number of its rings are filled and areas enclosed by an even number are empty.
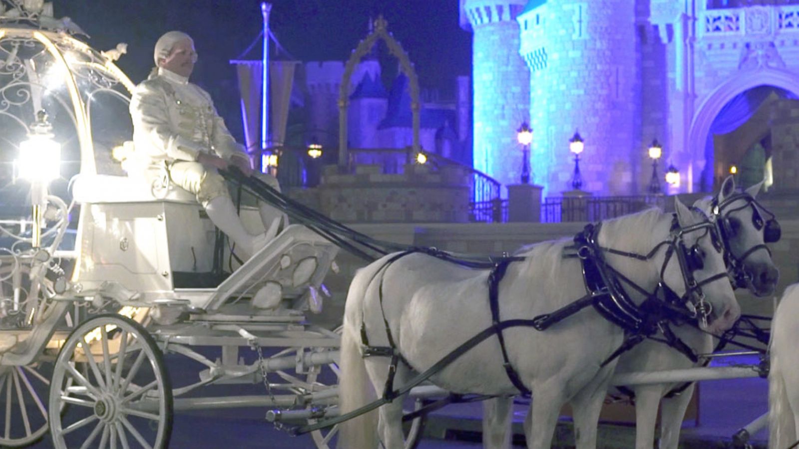
[[[40,110],[30,133],[19,143],[18,176],[30,181],[30,201],[33,206],[32,245],[42,244],[42,216],[47,207],[47,185],[61,176],[61,145],[53,140],[53,126],[47,113]]]

